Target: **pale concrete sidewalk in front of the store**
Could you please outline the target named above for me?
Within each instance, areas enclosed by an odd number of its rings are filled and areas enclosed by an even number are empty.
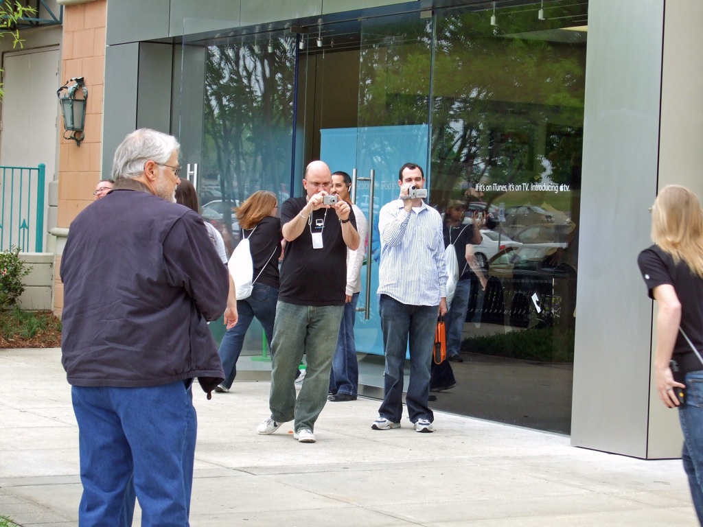
[[[60,350],[0,349],[0,372],[0,516],[75,526],[77,426]],[[328,403],[317,443],[302,444],[292,423],[257,435],[268,394],[268,382],[238,382],[212,401],[194,390],[193,527],[698,525],[678,460],[439,412],[434,434],[407,417],[373,431],[370,399]]]

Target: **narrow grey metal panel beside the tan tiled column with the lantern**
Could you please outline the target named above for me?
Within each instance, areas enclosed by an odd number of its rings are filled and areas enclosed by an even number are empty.
[[[137,42],[105,49],[103,177],[110,176],[117,145],[136,128],[138,63]]]

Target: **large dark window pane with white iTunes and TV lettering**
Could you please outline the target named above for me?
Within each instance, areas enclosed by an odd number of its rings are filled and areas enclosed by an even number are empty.
[[[486,219],[456,390],[463,413],[568,432],[588,5],[482,7],[434,27],[431,200]]]

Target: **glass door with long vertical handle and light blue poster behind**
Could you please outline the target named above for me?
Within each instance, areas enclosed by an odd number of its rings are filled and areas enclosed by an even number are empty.
[[[356,204],[369,221],[359,313],[354,326],[359,353],[383,354],[378,317],[378,212],[398,195],[406,162],[428,167],[432,18],[406,13],[359,24],[358,97],[354,126],[321,128],[321,159],[333,171],[354,172]],[[412,73],[411,73],[412,72]],[[373,183],[373,193],[371,186]]]

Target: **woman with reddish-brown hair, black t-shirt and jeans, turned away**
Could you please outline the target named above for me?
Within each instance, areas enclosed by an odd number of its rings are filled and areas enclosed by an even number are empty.
[[[237,220],[243,236],[249,240],[255,278],[252,294],[244,300],[237,301],[239,319],[236,325],[227,328],[219,347],[220,359],[224,369],[225,380],[215,391],[228,392],[237,375],[237,360],[242,352],[244,337],[254,317],[259,320],[266,340],[273,338],[273,319],[276,317],[278,288],[278,258],[280,257],[280,219],[278,199],[274,193],[266,190],[255,192],[237,210]]]

